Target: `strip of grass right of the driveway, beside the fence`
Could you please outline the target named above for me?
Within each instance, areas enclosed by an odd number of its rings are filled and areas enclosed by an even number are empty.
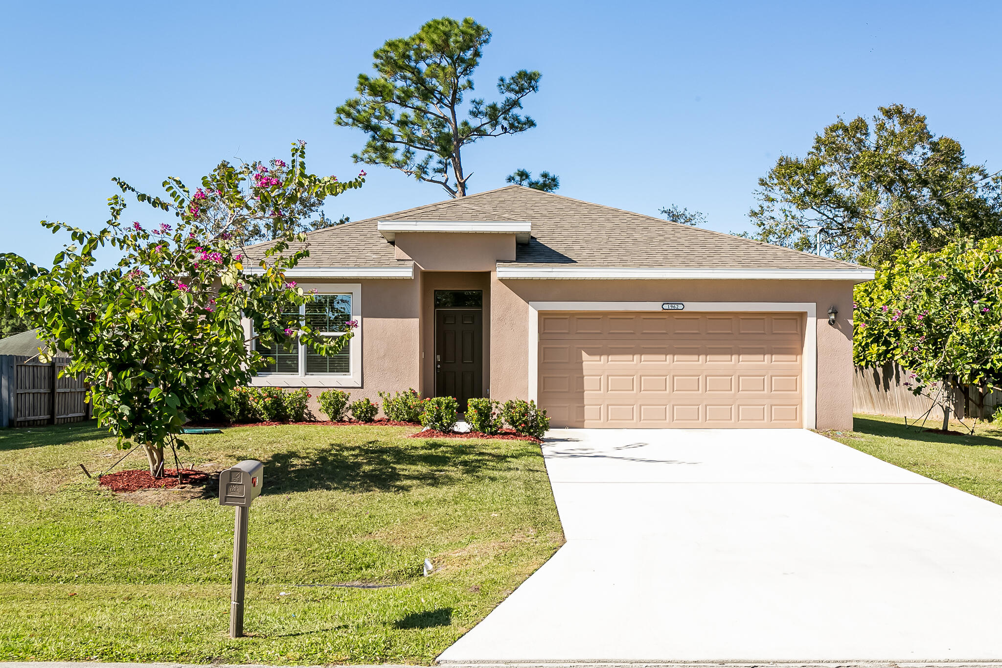
[[[940,424],[927,423],[927,428]],[[961,431],[959,424],[951,430]],[[1002,505],[1002,429],[979,423],[972,436],[931,434],[901,418],[857,415],[852,432],[825,436],[902,469]]]

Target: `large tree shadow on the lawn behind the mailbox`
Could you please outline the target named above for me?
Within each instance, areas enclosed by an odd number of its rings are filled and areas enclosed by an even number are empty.
[[[332,443],[310,450],[275,453],[265,465],[264,495],[309,490],[406,492],[438,487],[459,478],[500,473],[524,451],[485,452],[462,441],[367,441]]]

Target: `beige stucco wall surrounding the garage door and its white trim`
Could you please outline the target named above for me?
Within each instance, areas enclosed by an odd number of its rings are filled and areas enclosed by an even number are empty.
[[[795,301],[818,308],[817,428],[853,426],[853,283],[848,280],[498,280],[491,277],[491,397],[529,392],[529,301]],[[839,309],[835,326],[828,308]]]

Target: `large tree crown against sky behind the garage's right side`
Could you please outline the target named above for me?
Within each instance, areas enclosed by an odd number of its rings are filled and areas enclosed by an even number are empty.
[[[804,158],[781,156],[759,179],[749,215],[762,241],[817,244],[876,266],[912,242],[935,250],[1002,234],[1000,179],[965,162],[960,143],[934,135],[925,116],[894,104],[870,122],[839,118]]]

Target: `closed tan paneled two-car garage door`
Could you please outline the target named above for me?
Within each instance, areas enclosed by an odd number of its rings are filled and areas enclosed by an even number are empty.
[[[553,427],[801,427],[801,313],[542,312]]]

